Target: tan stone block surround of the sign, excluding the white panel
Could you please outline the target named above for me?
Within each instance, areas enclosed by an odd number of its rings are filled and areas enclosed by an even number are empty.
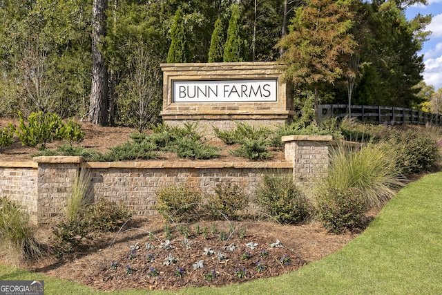
[[[213,133],[213,126],[221,130],[235,127],[236,121],[251,125],[277,126],[294,116],[293,86],[284,82],[278,62],[241,62],[208,64],[162,64],[163,108],[160,115],[166,124],[198,122],[204,134]],[[273,102],[175,102],[173,82],[178,81],[240,81],[253,79],[276,79],[277,99]]]

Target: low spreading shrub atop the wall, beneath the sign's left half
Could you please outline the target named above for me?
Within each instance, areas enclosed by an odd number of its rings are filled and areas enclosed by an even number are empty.
[[[206,160],[220,156],[219,149],[215,146],[203,144],[199,140],[193,140],[189,137],[182,137],[164,148],[165,151],[172,151],[178,158],[187,158],[195,160]]]

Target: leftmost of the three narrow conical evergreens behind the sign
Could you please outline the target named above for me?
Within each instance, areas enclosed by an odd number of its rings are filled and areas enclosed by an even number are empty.
[[[171,31],[171,47],[167,54],[169,64],[184,63],[189,61],[189,43],[187,41],[186,26],[181,8],[178,8],[173,17]]]

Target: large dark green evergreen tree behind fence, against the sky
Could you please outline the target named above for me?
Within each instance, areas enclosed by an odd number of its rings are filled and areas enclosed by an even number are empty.
[[[361,56],[366,66],[355,98],[360,104],[418,107],[422,101],[416,86],[424,64],[417,53],[425,40],[427,18],[407,21],[394,1],[369,9],[369,34]]]

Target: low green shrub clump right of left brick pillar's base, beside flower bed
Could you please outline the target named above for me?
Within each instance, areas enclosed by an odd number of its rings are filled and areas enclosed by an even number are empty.
[[[106,231],[115,231],[131,217],[131,211],[122,204],[100,198],[84,213],[66,218],[52,227],[51,247],[56,258],[66,258],[82,247],[84,240],[93,240]]]

